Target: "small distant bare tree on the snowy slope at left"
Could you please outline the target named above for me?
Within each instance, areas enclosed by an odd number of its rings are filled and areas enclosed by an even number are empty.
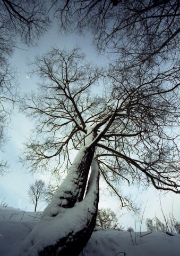
[[[42,180],[36,180],[35,183],[29,187],[28,195],[30,197],[30,202],[35,205],[35,212],[38,202],[42,201],[44,198],[45,191],[45,182]]]

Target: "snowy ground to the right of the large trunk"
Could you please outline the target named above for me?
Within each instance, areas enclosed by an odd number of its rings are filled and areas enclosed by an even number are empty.
[[[135,244],[134,232],[131,234]],[[93,233],[85,248],[85,256],[115,256],[118,252],[125,252],[127,256],[177,256],[179,249],[179,235],[170,237],[164,233],[152,233],[142,237],[141,241],[140,233],[136,233],[136,244],[133,245],[129,232],[106,229]]]

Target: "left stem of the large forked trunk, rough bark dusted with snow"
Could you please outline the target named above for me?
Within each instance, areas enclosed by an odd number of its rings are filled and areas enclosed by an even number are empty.
[[[55,217],[61,212],[61,207],[72,208],[76,202],[82,201],[94,152],[94,148],[83,147],[79,150],[69,173],[44,210],[42,218],[46,215]]]

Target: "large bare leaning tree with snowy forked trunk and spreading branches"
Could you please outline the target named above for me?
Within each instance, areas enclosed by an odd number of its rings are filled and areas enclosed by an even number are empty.
[[[22,106],[37,123],[24,160],[32,171],[68,174],[22,250],[78,255],[96,223],[99,172],[122,206],[133,207],[122,182],[179,193],[179,70],[104,69],[78,49],[52,49],[32,64],[41,83]]]

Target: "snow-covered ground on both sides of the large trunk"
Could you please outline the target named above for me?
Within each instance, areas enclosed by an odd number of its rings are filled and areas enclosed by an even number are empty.
[[[41,213],[0,208],[0,255],[13,256],[41,217]],[[180,235],[130,233],[113,229],[94,231],[83,256],[178,256]],[[132,235],[132,236],[131,236]],[[23,255],[22,255],[23,256]],[[73,255],[70,255],[73,256]]]

